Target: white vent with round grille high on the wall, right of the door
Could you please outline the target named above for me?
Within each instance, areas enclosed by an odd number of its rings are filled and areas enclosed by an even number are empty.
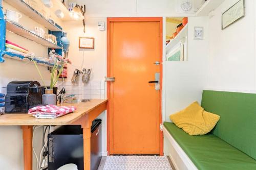
[[[193,13],[195,12],[195,0],[176,0],[177,12],[179,13]]]

